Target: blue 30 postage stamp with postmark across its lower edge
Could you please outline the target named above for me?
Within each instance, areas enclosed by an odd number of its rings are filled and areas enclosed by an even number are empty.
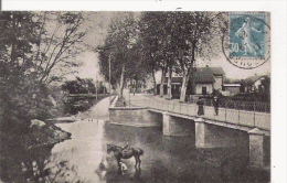
[[[230,12],[223,53],[233,65],[252,69],[270,57],[270,28],[267,12]]]

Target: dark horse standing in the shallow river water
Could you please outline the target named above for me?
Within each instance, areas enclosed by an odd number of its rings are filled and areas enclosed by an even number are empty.
[[[120,169],[120,159],[130,159],[131,157],[135,157],[136,160],[136,169],[137,165],[140,168],[140,159],[139,157],[144,154],[144,150],[139,148],[128,148],[123,150],[121,147],[117,147],[115,144],[108,143],[107,144],[107,153],[114,152],[114,155],[117,159],[118,168]]]

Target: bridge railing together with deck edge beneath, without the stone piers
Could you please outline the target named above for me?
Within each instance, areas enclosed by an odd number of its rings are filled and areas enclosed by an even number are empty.
[[[249,131],[254,128],[259,129],[265,136],[270,136],[270,114],[249,110],[219,108],[215,115],[214,107],[203,106],[204,115],[198,116],[198,105],[179,103],[174,100],[141,98],[131,100],[130,105],[146,107],[153,112],[166,112],[170,116],[192,119],[202,118],[208,123],[225,126],[243,131]]]

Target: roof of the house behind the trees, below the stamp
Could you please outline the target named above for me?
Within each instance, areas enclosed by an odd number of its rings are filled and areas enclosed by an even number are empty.
[[[194,82],[195,83],[213,83],[215,82],[214,76],[225,75],[222,67],[196,67]]]

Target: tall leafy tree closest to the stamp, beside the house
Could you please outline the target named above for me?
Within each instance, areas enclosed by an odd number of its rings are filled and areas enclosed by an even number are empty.
[[[210,60],[220,52],[222,36],[222,13],[215,12],[177,12],[173,26],[174,40],[178,41],[178,71],[182,73],[180,100],[185,100],[187,86],[190,75],[193,75],[195,61]],[[194,94],[194,82],[192,93]]]

